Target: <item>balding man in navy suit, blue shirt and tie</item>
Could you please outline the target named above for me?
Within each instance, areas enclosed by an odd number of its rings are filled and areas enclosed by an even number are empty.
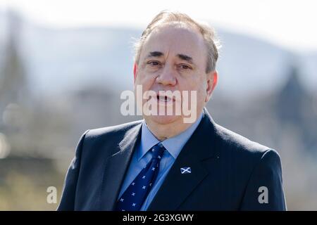
[[[86,131],[58,210],[286,210],[278,153],[220,127],[204,108],[218,81],[217,48],[209,26],[156,15],[136,46],[135,86],[154,92],[142,105],[164,113],[178,99],[162,91],[192,91],[195,120],[152,112]]]

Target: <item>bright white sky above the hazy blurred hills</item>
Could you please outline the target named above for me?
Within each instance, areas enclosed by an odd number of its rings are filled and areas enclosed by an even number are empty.
[[[35,23],[54,27],[144,26],[162,10],[187,13],[233,32],[295,51],[317,51],[316,0],[0,0]]]

